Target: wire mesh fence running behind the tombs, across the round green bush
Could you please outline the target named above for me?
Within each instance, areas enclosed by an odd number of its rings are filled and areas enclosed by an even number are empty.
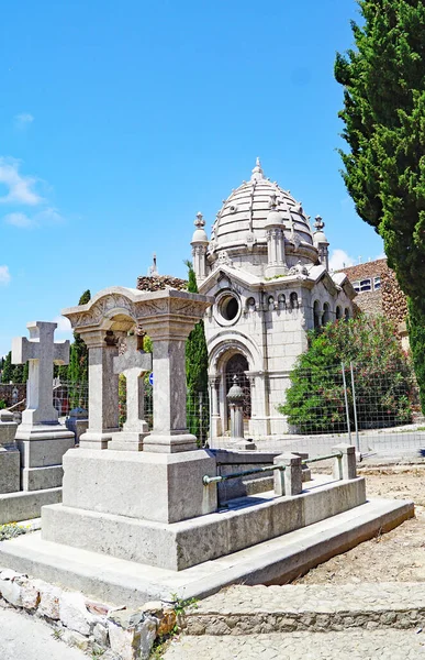
[[[238,366],[210,392],[188,392],[188,427],[202,446],[233,447],[226,397],[236,374],[244,392],[245,437],[254,439],[258,451],[313,455],[328,452],[339,442],[350,442],[364,454],[425,455],[425,419],[417,385],[412,370],[404,364],[389,363],[380,370],[368,363],[298,370],[290,375],[288,388],[278,393],[272,392],[271,380],[266,380],[261,392],[242,371],[243,365]],[[24,391],[23,384],[3,385],[1,405],[21,411],[25,407]],[[126,417],[125,398],[125,378],[120,378],[121,426]],[[261,417],[258,411],[267,398],[275,403]],[[88,383],[56,381],[53,402],[61,417],[76,407],[88,409]],[[153,388],[147,380],[144,404],[152,429]]]

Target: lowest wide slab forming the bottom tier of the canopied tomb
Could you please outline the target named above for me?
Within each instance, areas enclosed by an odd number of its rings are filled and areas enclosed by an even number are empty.
[[[373,499],[354,509],[184,571],[168,571],[45,541],[40,532],[0,543],[0,565],[137,607],[152,600],[203,598],[231,584],[286,582],[414,516],[412,502]]]

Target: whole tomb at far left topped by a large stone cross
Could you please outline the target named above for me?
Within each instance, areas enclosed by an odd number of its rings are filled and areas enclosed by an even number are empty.
[[[61,458],[75,440],[53,406],[53,365],[69,358],[69,341],[54,342],[56,327],[31,322],[30,339],[13,340],[12,362],[30,361],[30,370],[22,424],[0,413],[0,524],[36,518],[43,505],[60,502]]]

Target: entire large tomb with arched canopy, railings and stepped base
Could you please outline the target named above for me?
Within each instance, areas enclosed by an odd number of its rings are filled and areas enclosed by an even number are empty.
[[[366,501],[348,446],[336,448],[331,483],[303,485],[301,458],[280,455],[284,473],[273,491],[217,507],[214,453],[199,449],[186,425],[186,339],[209,305],[199,294],[113,287],[64,311],[89,348],[89,428],[80,449],[64,457],[63,504],[43,507],[41,536],[1,543],[1,565],[134,605],[270,582],[412,516],[412,504]],[[150,432],[139,328],[153,341]],[[119,355],[122,339],[126,353]],[[127,375],[131,408],[123,431],[119,373]]]

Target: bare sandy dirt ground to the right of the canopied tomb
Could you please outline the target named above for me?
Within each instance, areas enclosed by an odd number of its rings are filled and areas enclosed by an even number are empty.
[[[368,497],[413,499],[416,517],[334,557],[297,584],[425,582],[425,465],[360,468]]]

